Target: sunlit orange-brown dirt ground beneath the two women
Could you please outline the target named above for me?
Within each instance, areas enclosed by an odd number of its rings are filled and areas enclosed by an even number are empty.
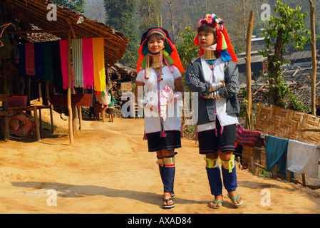
[[[42,115],[50,123],[48,110]],[[143,140],[143,119],[83,120],[71,145],[68,120],[56,112],[53,117],[56,132],[43,130],[41,142],[0,142],[0,213],[320,213],[319,190],[240,169],[237,190],[244,204],[235,208],[224,197],[221,209],[211,209],[205,161],[195,141],[186,138],[176,156],[175,208],[164,210],[155,153]]]

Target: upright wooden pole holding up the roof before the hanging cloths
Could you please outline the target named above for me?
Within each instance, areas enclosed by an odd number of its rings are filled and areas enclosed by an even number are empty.
[[[69,115],[69,140],[73,144],[73,115],[71,107],[71,30],[68,31],[68,115]]]

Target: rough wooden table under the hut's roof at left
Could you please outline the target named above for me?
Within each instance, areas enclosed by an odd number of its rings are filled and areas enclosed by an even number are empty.
[[[52,105],[30,105],[23,107],[8,107],[8,113],[19,113],[19,112],[27,112],[33,111],[34,124],[36,125],[36,139],[37,141],[41,141],[42,137],[42,118],[41,118],[41,109],[49,108],[50,109],[50,117],[51,117],[51,132],[54,131],[53,125],[53,116],[52,116]],[[39,115],[38,111],[39,110]]]

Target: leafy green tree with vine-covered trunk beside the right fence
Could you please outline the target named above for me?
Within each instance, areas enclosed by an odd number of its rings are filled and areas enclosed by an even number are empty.
[[[277,1],[274,11],[279,14],[279,17],[271,16],[269,26],[264,28],[265,48],[260,51],[260,54],[267,57],[269,103],[284,107],[284,97],[289,93],[281,71],[284,63],[282,57],[286,51],[284,46],[293,40],[296,50],[304,48],[304,44],[310,40],[310,31],[304,28],[304,20],[308,13],[301,14],[301,6],[292,9],[282,1]],[[274,49],[274,52],[269,51],[271,49]]]

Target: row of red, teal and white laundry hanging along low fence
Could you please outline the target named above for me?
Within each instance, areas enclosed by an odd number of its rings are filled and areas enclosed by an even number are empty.
[[[244,134],[241,135],[241,134]],[[248,140],[249,139],[249,140]],[[262,145],[259,147],[261,140]],[[259,167],[272,172],[272,177],[280,175],[286,177],[290,181],[289,172],[294,172],[303,177],[311,177],[316,180],[319,179],[319,150],[320,146],[311,145],[306,142],[299,142],[297,140],[289,140],[284,138],[277,138],[272,135],[261,133],[254,130],[237,131],[237,142],[249,142],[247,146],[252,147],[252,158],[249,160],[252,164],[252,173],[255,174],[254,167]],[[259,143],[258,143],[259,142]],[[265,143],[264,143],[265,142]],[[255,145],[254,145],[255,144]],[[258,151],[264,151],[266,156],[266,165],[263,167],[258,164],[261,160],[261,155]],[[306,185],[306,182],[304,181]]]

